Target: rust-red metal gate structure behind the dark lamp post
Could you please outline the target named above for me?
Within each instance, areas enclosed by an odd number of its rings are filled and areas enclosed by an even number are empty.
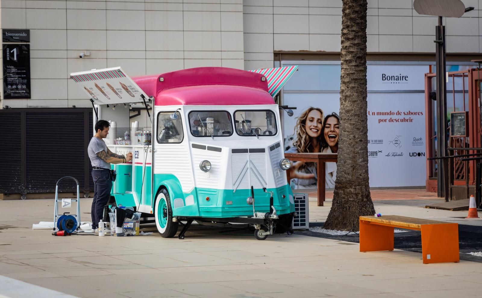
[[[447,73],[447,125],[449,135],[448,153],[451,158],[445,159],[447,162],[448,175],[448,198],[450,200],[467,199],[470,194],[475,194],[475,160],[462,160],[467,156],[482,152],[482,102],[481,84],[482,71],[468,69]],[[437,157],[436,143],[438,136],[435,132],[436,112],[435,112],[435,74],[425,74],[425,111],[426,111],[426,135],[427,157]],[[465,134],[454,135],[451,131],[453,127],[452,114],[461,114],[465,117],[467,131]],[[445,119],[444,119],[445,120]],[[437,192],[438,163],[442,160],[427,161],[427,191]]]

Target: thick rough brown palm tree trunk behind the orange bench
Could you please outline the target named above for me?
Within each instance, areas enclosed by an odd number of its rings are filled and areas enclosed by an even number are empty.
[[[343,0],[338,164],[325,229],[358,231],[359,216],[375,213],[368,183],[366,11],[367,0]]]

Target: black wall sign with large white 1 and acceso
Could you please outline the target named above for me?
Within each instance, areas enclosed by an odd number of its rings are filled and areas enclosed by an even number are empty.
[[[30,45],[3,45],[3,98],[30,98]]]

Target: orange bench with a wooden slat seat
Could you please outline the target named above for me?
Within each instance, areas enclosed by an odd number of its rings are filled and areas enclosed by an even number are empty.
[[[393,250],[394,228],[422,233],[423,263],[458,262],[458,224],[398,215],[360,217],[360,251]]]

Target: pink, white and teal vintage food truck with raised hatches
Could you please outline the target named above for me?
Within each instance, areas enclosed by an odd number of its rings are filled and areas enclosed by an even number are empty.
[[[111,122],[107,147],[133,153],[132,162],[112,165],[117,179],[109,204],[154,217],[165,238],[183,221],[184,239],[194,220],[247,224],[259,240],[290,231],[291,163],[283,153],[284,111],[273,98],[296,69],[199,67],[130,78],[113,67],[70,74],[91,98],[94,122]],[[132,107],[142,107],[141,116]]]

